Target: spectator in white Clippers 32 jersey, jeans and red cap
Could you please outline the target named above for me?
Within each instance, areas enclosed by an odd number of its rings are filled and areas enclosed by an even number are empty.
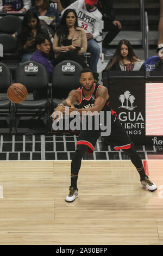
[[[86,32],[87,52],[91,53],[91,57],[88,60],[89,66],[94,72],[97,72],[100,47],[95,39],[101,31],[102,14],[95,7],[95,0],[77,0],[67,8],[74,9],[77,12],[79,26]],[[61,15],[64,11],[62,11]]]

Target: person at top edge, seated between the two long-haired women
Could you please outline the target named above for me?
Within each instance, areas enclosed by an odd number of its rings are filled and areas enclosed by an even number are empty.
[[[34,10],[37,14],[37,16],[47,16],[47,17],[53,17],[53,21],[48,26],[49,32],[54,36],[55,31],[60,23],[60,17],[58,11],[49,6],[48,0],[35,0],[34,7],[30,8],[31,10]]]

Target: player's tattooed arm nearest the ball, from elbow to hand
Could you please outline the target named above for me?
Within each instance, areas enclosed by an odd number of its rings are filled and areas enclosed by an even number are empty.
[[[62,118],[62,115],[64,113],[64,107],[71,107],[72,104],[77,101],[79,102],[80,98],[80,92],[79,90],[71,90],[71,92],[68,94],[68,97],[63,100],[57,108],[54,109],[54,112],[51,114],[52,120],[54,121],[55,118],[59,119]]]

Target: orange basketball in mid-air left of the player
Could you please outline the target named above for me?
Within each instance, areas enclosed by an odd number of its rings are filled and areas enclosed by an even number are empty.
[[[10,101],[21,103],[28,95],[27,88],[21,83],[12,83],[8,88],[7,95]]]

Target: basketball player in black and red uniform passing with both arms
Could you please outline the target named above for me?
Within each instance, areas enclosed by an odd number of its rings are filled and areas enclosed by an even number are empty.
[[[125,151],[140,174],[142,186],[146,187],[149,191],[156,190],[156,185],[150,181],[145,174],[141,158],[134,149],[126,130],[118,120],[116,112],[110,109],[108,89],[94,82],[93,72],[89,68],[85,68],[80,72],[80,83],[82,87],[72,90],[66,100],[62,101],[57,108],[55,108],[51,115],[53,120],[55,118],[60,119],[61,115],[65,113],[65,109],[67,109],[65,107],[69,107],[68,114],[72,111],[78,111],[80,115],[84,112],[93,113],[97,111],[100,113],[101,111],[111,111],[111,133],[110,136],[104,137],[107,144],[113,145],[115,150],[122,149]],[[78,109],[73,106],[74,102],[77,102]],[[73,202],[78,197],[77,179],[82,157],[85,152],[93,153],[96,141],[100,135],[100,130],[80,131],[77,149],[71,162],[71,186],[69,194],[66,196],[66,202]]]

